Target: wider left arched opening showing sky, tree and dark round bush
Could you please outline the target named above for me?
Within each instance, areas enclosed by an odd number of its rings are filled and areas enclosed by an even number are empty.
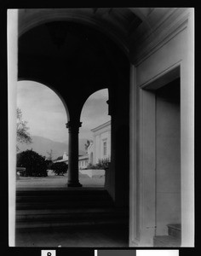
[[[68,148],[64,125],[68,110],[61,99],[44,84],[30,80],[17,83],[17,189],[66,185],[62,176],[67,173],[63,156]],[[64,172],[54,166],[60,158],[66,165]]]

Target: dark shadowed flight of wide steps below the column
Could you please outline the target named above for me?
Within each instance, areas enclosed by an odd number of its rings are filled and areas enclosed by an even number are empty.
[[[114,207],[106,190],[17,191],[16,229],[128,225],[128,210]]]

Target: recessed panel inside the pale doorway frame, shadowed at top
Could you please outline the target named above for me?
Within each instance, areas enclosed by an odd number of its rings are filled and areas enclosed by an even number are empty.
[[[156,93],[156,225],[167,235],[167,224],[181,224],[180,79]]]

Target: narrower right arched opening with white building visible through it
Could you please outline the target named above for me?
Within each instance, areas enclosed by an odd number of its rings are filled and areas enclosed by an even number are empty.
[[[85,175],[83,185],[103,187],[105,172],[111,162],[111,116],[108,115],[108,90],[98,90],[84,102],[79,131],[79,174]],[[85,163],[83,165],[83,161]],[[83,176],[84,177],[84,176]],[[81,183],[82,183],[81,182]]]

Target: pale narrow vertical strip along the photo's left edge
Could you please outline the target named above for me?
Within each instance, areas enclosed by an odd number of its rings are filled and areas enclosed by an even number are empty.
[[[16,189],[16,95],[18,13],[8,9],[8,102],[9,102],[9,247],[15,246]]]

